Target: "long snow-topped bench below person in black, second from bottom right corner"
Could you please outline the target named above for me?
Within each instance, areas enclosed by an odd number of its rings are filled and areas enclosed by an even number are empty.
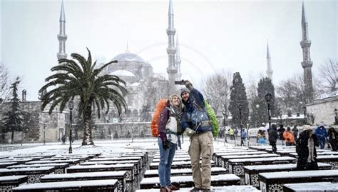
[[[266,191],[283,191],[285,183],[308,183],[321,181],[338,181],[338,170],[316,171],[282,171],[259,173],[260,189]]]

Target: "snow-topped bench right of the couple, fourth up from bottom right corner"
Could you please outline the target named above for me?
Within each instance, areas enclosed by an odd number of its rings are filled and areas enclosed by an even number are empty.
[[[293,157],[267,157],[267,158],[232,158],[229,163],[229,173],[234,173],[237,176],[244,176],[243,166],[267,165],[267,164],[282,164],[294,163],[297,159]]]

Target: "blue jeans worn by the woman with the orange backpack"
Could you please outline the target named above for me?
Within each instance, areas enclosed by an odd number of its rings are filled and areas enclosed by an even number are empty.
[[[160,178],[160,186],[170,186],[171,163],[173,163],[177,144],[170,143],[170,148],[164,149],[162,140],[158,138],[158,147],[160,148],[160,164],[158,165],[158,177]]]

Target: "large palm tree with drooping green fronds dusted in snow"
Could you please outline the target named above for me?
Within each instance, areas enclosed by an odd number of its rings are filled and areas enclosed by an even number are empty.
[[[91,112],[96,106],[98,118],[101,110],[106,108],[109,111],[110,103],[113,102],[120,115],[122,109],[126,111],[127,103],[123,98],[127,94],[126,82],[113,75],[98,76],[100,72],[109,64],[116,63],[111,61],[98,69],[96,61],[92,64],[91,51],[88,50],[88,59],[79,54],[71,54],[73,59],[58,59],[58,66],[51,68],[56,74],[46,78],[46,84],[40,89],[43,110],[48,103],[51,103],[49,114],[56,106],[62,112],[68,101],[75,97],[78,99],[78,116],[83,116],[84,133],[82,145],[93,145],[91,136]],[[77,62],[76,62],[77,61]],[[52,88],[51,91],[46,91]],[[95,103],[95,106],[94,106]]]

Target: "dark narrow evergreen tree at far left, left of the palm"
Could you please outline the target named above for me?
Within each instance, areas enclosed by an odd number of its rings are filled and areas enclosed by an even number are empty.
[[[20,83],[19,77],[16,78],[16,81],[11,84],[10,89],[12,89],[11,94],[12,98],[10,100],[11,106],[9,111],[4,113],[4,128],[5,132],[11,132],[11,143],[14,141],[14,132],[22,131],[21,121],[22,121],[22,112],[19,106],[19,97],[18,97],[18,85]]]

